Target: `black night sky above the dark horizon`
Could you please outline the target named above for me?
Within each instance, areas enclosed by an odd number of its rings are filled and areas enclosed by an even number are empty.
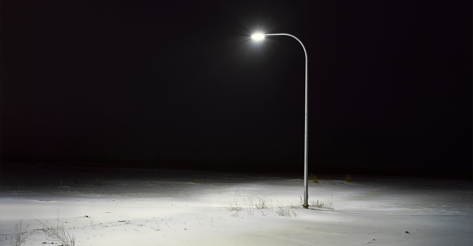
[[[310,171],[471,178],[471,1],[229,2],[2,0],[2,155],[299,172],[263,31]]]

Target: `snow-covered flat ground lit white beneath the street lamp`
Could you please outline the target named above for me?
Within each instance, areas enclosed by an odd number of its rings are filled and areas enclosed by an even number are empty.
[[[322,207],[302,209],[301,176],[5,163],[1,171],[0,246],[18,220],[40,229],[30,218],[53,221],[57,209],[76,246],[473,245],[471,180],[330,176],[309,184],[309,204]],[[35,231],[25,245],[53,242]]]

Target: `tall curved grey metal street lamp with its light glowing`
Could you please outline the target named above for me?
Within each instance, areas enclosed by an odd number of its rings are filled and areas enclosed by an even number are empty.
[[[272,34],[254,34],[251,37],[255,40],[263,40],[265,36],[274,36],[274,35],[286,35],[286,36],[291,36],[295,38],[297,41],[299,41],[300,45],[302,45],[302,48],[304,49],[304,53],[306,54],[306,100],[305,100],[305,109],[306,109],[306,119],[305,119],[305,135],[304,135],[304,204],[302,204],[302,207],[308,208],[308,194],[307,194],[307,51],[306,47],[300,40],[294,36],[290,35],[287,33],[272,33]]]

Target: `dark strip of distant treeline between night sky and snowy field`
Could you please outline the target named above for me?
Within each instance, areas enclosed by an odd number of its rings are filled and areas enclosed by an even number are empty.
[[[302,158],[286,159],[244,159],[235,157],[182,158],[177,156],[155,156],[154,158],[139,158],[136,156],[109,155],[102,152],[94,154],[51,154],[13,151],[1,153],[3,162],[45,163],[60,166],[110,167],[110,168],[165,168],[196,171],[216,171],[232,173],[258,174],[296,174],[303,177],[304,162]],[[437,169],[412,167],[409,165],[362,165],[350,163],[343,158],[309,161],[309,173],[314,175],[345,175],[352,176],[411,176],[472,179],[471,172],[462,172],[455,166],[445,168],[442,173]]]

